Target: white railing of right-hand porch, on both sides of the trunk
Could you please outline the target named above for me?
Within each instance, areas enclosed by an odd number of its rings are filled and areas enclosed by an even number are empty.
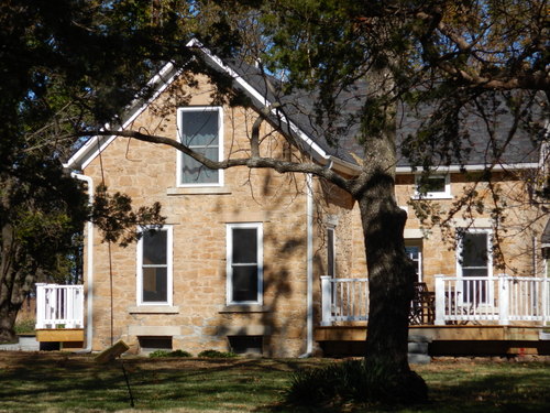
[[[435,278],[436,325],[550,322],[550,279],[534,276]],[[369,280],[321,276],[321,325],[369,319]]]

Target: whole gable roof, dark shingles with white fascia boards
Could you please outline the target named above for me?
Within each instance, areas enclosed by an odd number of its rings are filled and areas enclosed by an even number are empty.
[[[233,79],[233,85],[249,97],[252,105],[257,110],[272,107],[275,102],[283,104],[283,109],[271,108],[267,120],[279,127],[282,133],[292,135],[301,151],[310,155],[316,162],[322,165],[329,165],[336,170],[349,175],[355,175],[361,171],[358,159],[362,159],[363,148],[356,142],[359,135],[359,122],[350,122],[351,113],[356,113],[362,106],[361,98],[352,93],[343,95],[345,101],[345,112],[342,112],[341,122],[344,124],[344,132],[339,139],[338,144],[331,144],[324,138],[322,126],[312,121],[315,93],[298,91],[292,95],[279,93],[276,87],[268,84],[268,78],[257,67],[241,61],[221,61],[218,56],[211,54],[198,41],[194,40],[187,44],[188,47],[196,47],[201,52],[204,63],[211,68],[229,75]],[[172,63],[166,64],[161,72],[154,76],[148,87],[155,91],[147,101],[134,101],[127,111],[123,122],[119,130],[128,126],[141,115],[147,106],[161,95],[182,73],[182,68],[176,68]],[[505,135],[510,120],[506,120],[497,128],[497,135]],[[537,167],[539,163],[538,148],[534,144],[530,137],[525,133],[517,133],[498,160],[491,157],[492,151],[487,146],[487,139],[484,133],[484,124],[475,117],[468,117],[464,127],[469,130],[469,143],[471,145],[470,154],[465,159],[462,167],[466,170],[483,170],[487,163],[495,163],[495,167]],[[413,171],[409,160],[400,154],[400,144],[403,140],[411,133],[415,133],[419,126],[418,117],[413,117],[406,110],[397,130],[398,142],[398,163],[397,172],[406,173]],[[113,140],[111,137],[92,137],[89,139],[65,164],[70,169],[86,167],[101,151],[103,151]],[[438,170],[438,160],[435,160],[435,169]],[[441,162],[443,164],[443,162]],[[443,170],[459,171],[459,164],[442,166]]]

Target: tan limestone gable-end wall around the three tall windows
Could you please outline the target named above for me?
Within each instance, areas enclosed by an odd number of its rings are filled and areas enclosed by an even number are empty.
[[[187,90],[186,104],[209,105],[210,95],[197,90]],[[162,115],[155,109],[169,102],[169,96],[161,96],[132,128],[175,138],[176,107]],[[243,108],[223,108],[226,155],[246,155],[255,117]],[[272,137],[266,151],[285,150],[270,132],[265,127],[263,135]],[[176,159],[172,148],[118,138],[85,170],[95,185],[105,178],[110,192],[132,196],[134,207],[160,202],[173,228],[172,306],[139,306],[136,246],[111,244],[109,253],[96,233],[92,349],[109,346],[111,335],[133,351],[140,350],[140,337],[172,337],[174,349],[193,354],[228,350],[228,336],[262,336],[264,355],[300,355],[306,348],[304,176],[237,167],[224,171],[223,186],[178,187]],[[227,305],[226,233],[232,222],[263,225],[263,305]]]

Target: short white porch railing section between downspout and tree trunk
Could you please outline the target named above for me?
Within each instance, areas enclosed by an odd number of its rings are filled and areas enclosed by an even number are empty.
[[[322,326],[369,318],[369,280],[321,276]]]

